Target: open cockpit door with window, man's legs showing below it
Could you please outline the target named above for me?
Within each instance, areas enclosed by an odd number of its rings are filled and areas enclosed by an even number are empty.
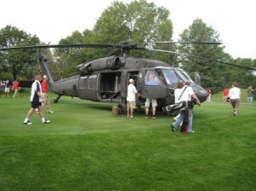
[[[143,78],[143,98],[166,98],[166,85],[154,70],[146,70]]]

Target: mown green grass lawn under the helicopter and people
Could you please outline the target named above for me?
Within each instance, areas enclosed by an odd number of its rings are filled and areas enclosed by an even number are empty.
[[[54,98],[55,95],[50,95]],[[113,117],[113,104],[61,97],[51,124],[22,124],[29,95],[0,97],[0,190],[254,190],[255,105],[204,102],[195,134],[172,116]],[[212,96],[212,100],[218,99]],[[44,110],[45,111],[45,110]]]

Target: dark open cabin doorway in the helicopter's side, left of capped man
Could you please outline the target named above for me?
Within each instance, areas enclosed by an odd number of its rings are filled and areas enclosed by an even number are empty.
[[[101,73],[99,81],[99,97],[102,101],[117,102],[121,100],[120,97],[120,72],[106,72]]]

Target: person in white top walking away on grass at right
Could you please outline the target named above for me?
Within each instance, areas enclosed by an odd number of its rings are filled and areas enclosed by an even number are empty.
[[[240,96],[241,96],[241,90],[236,87],[237,83],[232,83],[232,88],[230,89],[229,97],[230,97],[230,103],[234,110],[234,116],[238,115],[238,109],[240,105]]]

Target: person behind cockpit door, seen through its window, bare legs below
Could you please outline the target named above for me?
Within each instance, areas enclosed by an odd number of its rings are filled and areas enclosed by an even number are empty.
[[[145,83],[146,85],[159,85],[158,78],[153,74],[149,74],[149,80]],[[152,118],[155,119],[155,111],[157,107],[157,101],[154,98],[147,98],[145,102],[145,119],[148,119],[148,112],[150,103],[152,104]]]

